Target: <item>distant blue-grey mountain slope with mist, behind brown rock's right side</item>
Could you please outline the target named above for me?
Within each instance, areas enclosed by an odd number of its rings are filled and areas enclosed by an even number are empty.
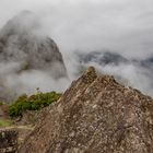
[[[111,50],[98,50],[85,54],[78,51],[78,73],[89,66],[96,67],[99,72],[114,75],[125,85],[141,90],[153,96],[153,57],[134,59],[123,57]]]

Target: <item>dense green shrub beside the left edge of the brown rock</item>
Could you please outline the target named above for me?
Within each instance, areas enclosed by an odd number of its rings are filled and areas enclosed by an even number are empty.
[[[58,101],[61,94],[56,92],[40,93],[27,96],[20,96],[12,105],[9,106],[9,115],[11,117],[22,116],[26,110],[39,110],[51,103]]]

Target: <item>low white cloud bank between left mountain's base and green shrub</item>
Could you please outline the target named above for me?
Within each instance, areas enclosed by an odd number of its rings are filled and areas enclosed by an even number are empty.
[[[5,86],[17,93],[17,95],[23,93],[32,94],[36,92],[37,87],[43,92],[63,92],[68,85],[69,81],[67,79],[56,81],[47,72],[38,70],[26,71],[21,74],[11,73],[5,79]]]

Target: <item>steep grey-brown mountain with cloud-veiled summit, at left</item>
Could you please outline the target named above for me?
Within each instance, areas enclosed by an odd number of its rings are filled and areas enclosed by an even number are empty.
[[[20,62],[19,71],[44,70],[52,78],[67,76],[61,52],[44,36],[32,12],[23,11],[0,31],[0,62]]]

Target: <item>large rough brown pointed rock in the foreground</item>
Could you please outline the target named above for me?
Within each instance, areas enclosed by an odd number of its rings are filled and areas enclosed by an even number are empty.
[[[152,153],[153,99],[90,68],[42,114],[20,153]]]

